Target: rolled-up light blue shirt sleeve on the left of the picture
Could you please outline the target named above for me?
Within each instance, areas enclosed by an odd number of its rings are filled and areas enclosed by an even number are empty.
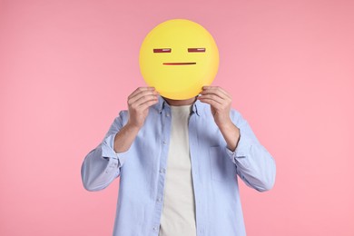
[[[129,151],[116,153],[113,149],[114,137],[126,123],[127,113],[123,111],[116,117],[106,135],[93,151],[84,158],[81,177],[88,191],[106,188],[120,175],[121,167]]]

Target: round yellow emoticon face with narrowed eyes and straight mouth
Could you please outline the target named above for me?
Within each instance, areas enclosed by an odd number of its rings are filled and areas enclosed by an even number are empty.
[[[139,57],[143,78],[163,96],[189,99],[210,85],[219,67],[211,34],[189,20],[157,25],[143,40]]]

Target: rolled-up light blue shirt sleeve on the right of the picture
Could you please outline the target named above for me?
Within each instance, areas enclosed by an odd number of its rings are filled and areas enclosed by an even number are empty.
[[[275,182],[275,161],[252,132],[249,123],[241,114],[232,111],[232,122],[240,129],[240,140],[236,150],[226,148],[231,161],[236,164],[241,180],[251,188],[264,192],[270,190]]]

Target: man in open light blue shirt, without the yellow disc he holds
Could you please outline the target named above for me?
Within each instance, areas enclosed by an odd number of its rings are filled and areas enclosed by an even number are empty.
[[[238,177],[270,190],[275,162],[220,87],[187,100],[141,87],[84,159],[88,191],[118,176],[114,236],[245,235]]]

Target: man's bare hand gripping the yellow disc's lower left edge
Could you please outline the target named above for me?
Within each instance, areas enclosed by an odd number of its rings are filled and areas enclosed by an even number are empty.
[[[149,107],[158,103],[158,95],[153,87],[139,87],[128,96],[128,123],[134,128],[142,128],[149,113]]]

